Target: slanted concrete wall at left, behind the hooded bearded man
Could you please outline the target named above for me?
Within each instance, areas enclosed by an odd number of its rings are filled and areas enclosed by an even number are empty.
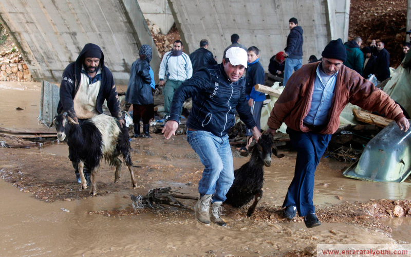
[[[117,84],[127,84],[142,44],[155,44],[137,0],[1,0],[2,23],[36,80],[59,82],[86,43],[99,45]],[[157,74],[160,58],[153,51]]]

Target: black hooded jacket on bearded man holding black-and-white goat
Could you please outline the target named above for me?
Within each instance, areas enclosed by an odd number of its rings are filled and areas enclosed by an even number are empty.
[[[111,71],[104,66],[104,54],[101,48],[95,44],[86,44],[81,50],[76,62],[72,62],[64,69],[63,77],[60,85],[60,102],[57,106],[57,113],[67,112],[71,118],[77,117],[74,112],[73,99],[79,89],[81,80],[81,69],[83,67],[83,55],[90,49],[97,49],[101,52],[100,69],[101,69],[101,86],[97,96],[97,111],[103,113],[103,103],[107,100],[107,107],[110,110],[111,116],[121,119],[120,101],[117,95],[117,88],[114,83]]]

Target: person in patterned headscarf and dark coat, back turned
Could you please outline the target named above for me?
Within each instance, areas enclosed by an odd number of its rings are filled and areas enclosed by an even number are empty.
[[[138,53],[140,58],[132,65],[124,101],[133,104],[134,137],[141,137],[140,119],[143,118],[142,137],[150,138],[149,122],[151,118],[154,118],[152,88],[156,86],[154,83],[154,73],[151,72],[150,68],[150,61],[152,59],[151,46],[142,45]]]

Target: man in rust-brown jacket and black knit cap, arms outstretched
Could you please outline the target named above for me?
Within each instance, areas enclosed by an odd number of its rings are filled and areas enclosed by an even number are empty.
[[[323,60],[304,65],[290,77],[268,119],[268,133],[275,134],[283,122],[297,151],[294,178],[283,207],[284,217],[296,211],[307,228],[321,225],[312,202],[314,172],[340,125],[340,114],[348,103],[378,111],[394,119],[404,132],[409,122],[401,108],[379,88],[343,65],[347,53],[341,39],[324,49]]]

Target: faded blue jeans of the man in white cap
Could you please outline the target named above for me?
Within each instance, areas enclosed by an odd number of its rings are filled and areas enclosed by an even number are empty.
[[[187,130],[187,141],[204,165],[198,192],[201,196],[214,194],[213,202],[225,201],[234,181],[233,155],[228,135],[217,137],[207,131]]]

